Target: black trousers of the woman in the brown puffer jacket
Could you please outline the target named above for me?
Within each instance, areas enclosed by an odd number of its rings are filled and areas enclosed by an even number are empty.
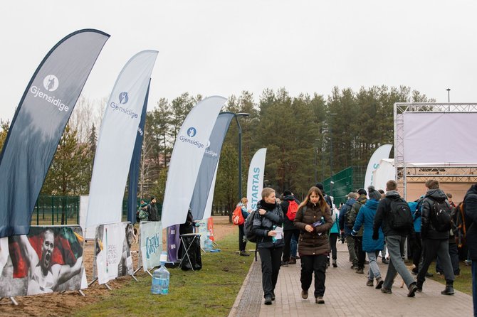
[[[326,254],[302,255],[301,259],[301,289],[308,291],[315,273],[315,298],[325,295]]]

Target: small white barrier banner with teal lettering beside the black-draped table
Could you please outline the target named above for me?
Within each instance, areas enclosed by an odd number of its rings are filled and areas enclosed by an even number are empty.
[[[162,252],[162,223],[141,221],[139,225],[142,269],[147,271],[160,264]]]

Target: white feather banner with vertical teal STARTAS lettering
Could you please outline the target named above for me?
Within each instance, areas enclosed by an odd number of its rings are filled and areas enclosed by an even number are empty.
[[[247,209],[256,210],[258,200],[262,199],[266,154],[266,148],[259,149],[255,155],[253,155],[252,161],[250,162],[247,180]]]

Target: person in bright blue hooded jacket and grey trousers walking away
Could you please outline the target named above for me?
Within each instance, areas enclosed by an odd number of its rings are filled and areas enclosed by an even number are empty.
[[[351,234],[355,236],[357,235],[357,232],[360,231],[362,225],[365,227],[362,235],[362,249],[367,253],[367,258],[369,259],[369,274],[366,285],[374,286],[373,279],[375,278],[376,289],[381,289],[384,280],[381,277],[381,272],[379,272],[379,267],[376,262],[377,255],[384,247],[384,233],[381,228],[379,228],[377,240],[372,239],[372,226],[374,223],[374,216],[376,215],[377,205],[381,199],[381,193],[374,189],[374,186],[369,186],[367,190],[369,200],[367,200],[366,204],[362,205],[360,208]]]

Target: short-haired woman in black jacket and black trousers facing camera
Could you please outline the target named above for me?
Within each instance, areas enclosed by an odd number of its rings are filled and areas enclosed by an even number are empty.
[[[275,190],[263,188],[262,200],[257,203],[252,232],[257,236],[257,249],[262,262],[262,287],[265,304],[275,300],[275,286],[283,252],[283,212],[276,202]]]

